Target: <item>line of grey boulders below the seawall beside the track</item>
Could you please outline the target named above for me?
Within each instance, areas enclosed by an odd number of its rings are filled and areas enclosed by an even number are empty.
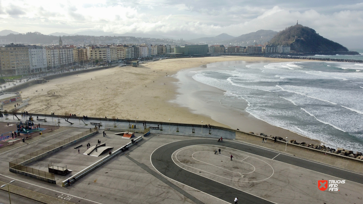
[[[271,138],[273,140],[276,138],[276,140],[286,142],[286,140],[284,138],[280,137],[280,136],[273,136],[273,135],[268,136],[268,135],[263,134],[263,133],[261,133],[260,135]],[[301,146],[304,146],[304,147],[313,148],[313,149],[316,149],[316,150],[331,152],[331,153],[334,153],[334,154],[339,154],[339,155],[348,156],[348,157],[351,157],[351,158],[356,158],[356,159],[362,159],[363,160],[362,152],[358,152],[358,151],[354,153],[353,151],[346,150],[344,148],[334,149],[334,148],[326,147],[325,145],[307,144],[305,142],[298,143],[298,142],[296,142],[296,140],[290,140],[290,141],[287,141],[287,142],[297,144],[297,145],[301,145]]]

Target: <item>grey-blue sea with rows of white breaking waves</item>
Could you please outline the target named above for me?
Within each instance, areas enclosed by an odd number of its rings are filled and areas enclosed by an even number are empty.
[[[363,151],[363,64],[233,62],[209,68],[193,79],[225,90],[224,105],[238,109],[246,101],[245,111],[271,125],[329,147]]]

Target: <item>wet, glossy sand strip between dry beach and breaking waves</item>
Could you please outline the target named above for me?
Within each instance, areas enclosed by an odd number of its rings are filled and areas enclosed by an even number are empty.
[[[253,63],[254,62],[244,62],[246,65]],[[184,83],[179,82],[179,88],[177,90],[179,94],[176,99],[172,100],[172,102],[177,103],[182,107],[188,107],[192,113],[209,115],[214,121],[228,125],[235,130],[238,128],[240,131],[253,132],[257,135],[263,133],[268,136],[280,136],[284,139],[287,136],[288,140],[296,140],[299,142],[319,145],[322,144],[322,141],[308,138],[296,132],[271,125],[262,119],[256,118],[245,111],[246,107],[248,107],[248,103],[245,101],[241,101],[241,105],[238,108],[221,104],[221,101],[226,99],[225,90],[198,82],[192,78],[191,74],[188,74],[203,69],[206,68],[198,67],[180,70],[176,74],[175,77],[178,78],[179,81],[184,81]],[[208,68],[208,70],[219,69]]]

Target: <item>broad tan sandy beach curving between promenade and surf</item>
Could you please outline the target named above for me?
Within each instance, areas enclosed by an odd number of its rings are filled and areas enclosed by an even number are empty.
[[[319,143],[283,128],[269,125],[248,113],[237,114],[233,113],[233,110],[228,111],[226,107],[208,103],[209,97],[222,97],[223,91],[207,85],[203,85],[203,91],[197,94],[200,100],[195,101],[193,107],[176,103],[179,95],[179,79],[173,76],[178,71],[203,68],[203,65],[223,61],[260,63],[291,60],[234,56],[167,59],[141,64],[137,68],[115,67],[57,78],[21,91],[23,99],[31,98],[29,105],[25,107],[29,113],[50,114],[53,111],[55,114],[61,115],[67,111],[89,117],[109,115],[109,118],[114,116],[131,120],[139,117],[139,121],[168,122],[170,119],[171,122],[195,124],[203,121],[204,124],[239,128],[246,132],[286,135],[289,139],[297,141]],[[220,111],[206,111],[206,103],[208,103],[208,107],[214,106],[216,110]],[[198,106],[200,110],[196,111]],[[217,117],[217,112],[221,113],[223,117]],[[238,120],[233,120],[233,118],[238,118]]]

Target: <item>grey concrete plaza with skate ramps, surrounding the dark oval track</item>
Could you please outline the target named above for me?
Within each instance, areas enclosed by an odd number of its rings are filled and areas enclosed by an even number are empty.
[[[6,126],[4,123],[0,125]],[[182,135],[184,129],[188,130],[187,127],[172,134],[177,126],[171,126],[170,131],[168,127],[165,132],[156,130],[145,136],[135,132],[132,138],[141,136],[142,140],[121,152],[120,148],[130,144],[131,138],[125,139],[118,135],[120,131],[103,130],[101,127],[101,130],[88,136],[94,132],[93,129],[89,131],[89,128],[81,128],[75,122],[74,125],[60,126],[57,130],[38,135],[24,143],[1,148],[0,182],[15,180],[11,187],[13,193],[46,198],[40,201],[42,203],[217,204],[233,203],[234,197],[238,197],[240,203],[323,204],[362,201],[361,173],[299,158],[291,154],[292,147],[287,147],[290,150],[285,152],[257,146],[251,144],[252,141],[246,143],[223,139],[223,142],[217,142],[216,138],[189,136],[190,133]],[[49,167],[69,170],[66,175],[54,174],[56,184],[9,171],[9,161],[68,138],[75,139],[76,135],[85,131],[83,135],[87,136],[83,136],[84,139],[25,165],[44,172],[48,172]],[[196,128],[195,132],[198,131]],[[215,132],[223,134],[222,130]],[[87,148],[86,144],[90,144],[90,147]],[[266,144],[285,150],[284,145],[274,144],[273,141]],[[306,157],[317,157],[309,151],[305,154]],[[102,160],[107,161],[93,168]],[[84,172],[87,174],[83,175]],[[67,185],[68,179],[72,185]],[[346,181],[339,184],[339,191],[321,191],[318,188],[319,180]]]

